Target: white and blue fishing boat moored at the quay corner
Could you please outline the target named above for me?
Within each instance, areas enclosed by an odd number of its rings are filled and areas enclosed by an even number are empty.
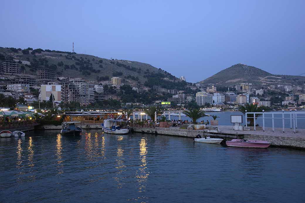
[[[101,126],[105,133],[127,134],[129,133],[127,122],[127,119],[121,119],[121,116],[119,116],[117,119],[105,119]]]

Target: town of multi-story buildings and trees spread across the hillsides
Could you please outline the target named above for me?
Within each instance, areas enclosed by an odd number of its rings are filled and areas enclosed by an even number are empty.
[[[246,103],[272,109],[296,109],[305,105],[305,84],[240,83],[223,87],[185,82],[184,86],[174,89],[159,85],[158,81],[150,87],[145,83],[124,84],[123,77],[105,78],[99,82],[58,77],[56,70],[48,68],[38,68],[36,75],[29,75],[21,72],[20,64],[22,62],[14,60],[1,62],[0,93],[10,100],[14,99],[16,104],[33,105],[35,108],[50,108],[53,103],[64,108],[71,108],[71,103],[74,108],[120,108],[159,105],[162,102],[178,107],[198,105],[202,108],[213,106],[227,109]],[[160,80],[175,84],[170,78]],[[180,81],[185,81],[185,77],[181,76]]]

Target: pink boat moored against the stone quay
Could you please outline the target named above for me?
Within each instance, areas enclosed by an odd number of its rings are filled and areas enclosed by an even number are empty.
[[[262,140],[240,140],[233,139],[226,141],[228,147],[249,147],[249,148],[267,148],[271,143]]]

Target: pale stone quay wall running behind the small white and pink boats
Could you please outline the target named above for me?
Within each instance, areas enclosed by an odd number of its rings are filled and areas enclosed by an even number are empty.
[[[207,133],[203,132],[203,130],[185,130],[185,129],[177,129],[177,128],[142,128],[142,127],[133,127],[134,132],[140,133],[151,133],[161,134],[161,135],[169,135],[169,136],[179,136],[179,137],[196,137],[196,135],[200,134],[201,136],[204,134],[206,136],[210,136],[213,138],[222,138],[224,140],[232,140],[232,139],[246,139],[246,140],[264,140],[271,142],[272,145],[278,147],[287,147],[287,148],[302,148],[305,149],[305,139],[297,138],[297,137],[278,137],[278,136],[270,136],[270,135],[245,135],[245,134],[229,134],[229,133]]]

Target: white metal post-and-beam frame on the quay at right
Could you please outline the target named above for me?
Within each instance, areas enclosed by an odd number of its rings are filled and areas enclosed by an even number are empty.
[[[254,130],[256,130],[256,117],[255,115],[262,115],[263,119],[263,131],[265,131],[265,119],[272,119],[272,131],[274,132],[274,119],[282,119],[283,123],[283,133],[285,133],[285,119],[290,119],[290,129],[292,129],[293,126],[293,132],[296,133],[296,129],[298,128],[298,119],[305,119],[305,112],[297,112],[295,111],[289,111],[289,112],[246,112],[246,127],[248,126],[248,118],[254,119]],[[253,117],[248,117],[248,114],[253,114]],[[276,118],[274,117],[274,114],[282,115],[282,117]],[[265,115],[272,115],[272,117],[265,117]],[[290,115],[288,118],[285,118],[285,115]],[[293,123],[293,124],[292,124]]]

